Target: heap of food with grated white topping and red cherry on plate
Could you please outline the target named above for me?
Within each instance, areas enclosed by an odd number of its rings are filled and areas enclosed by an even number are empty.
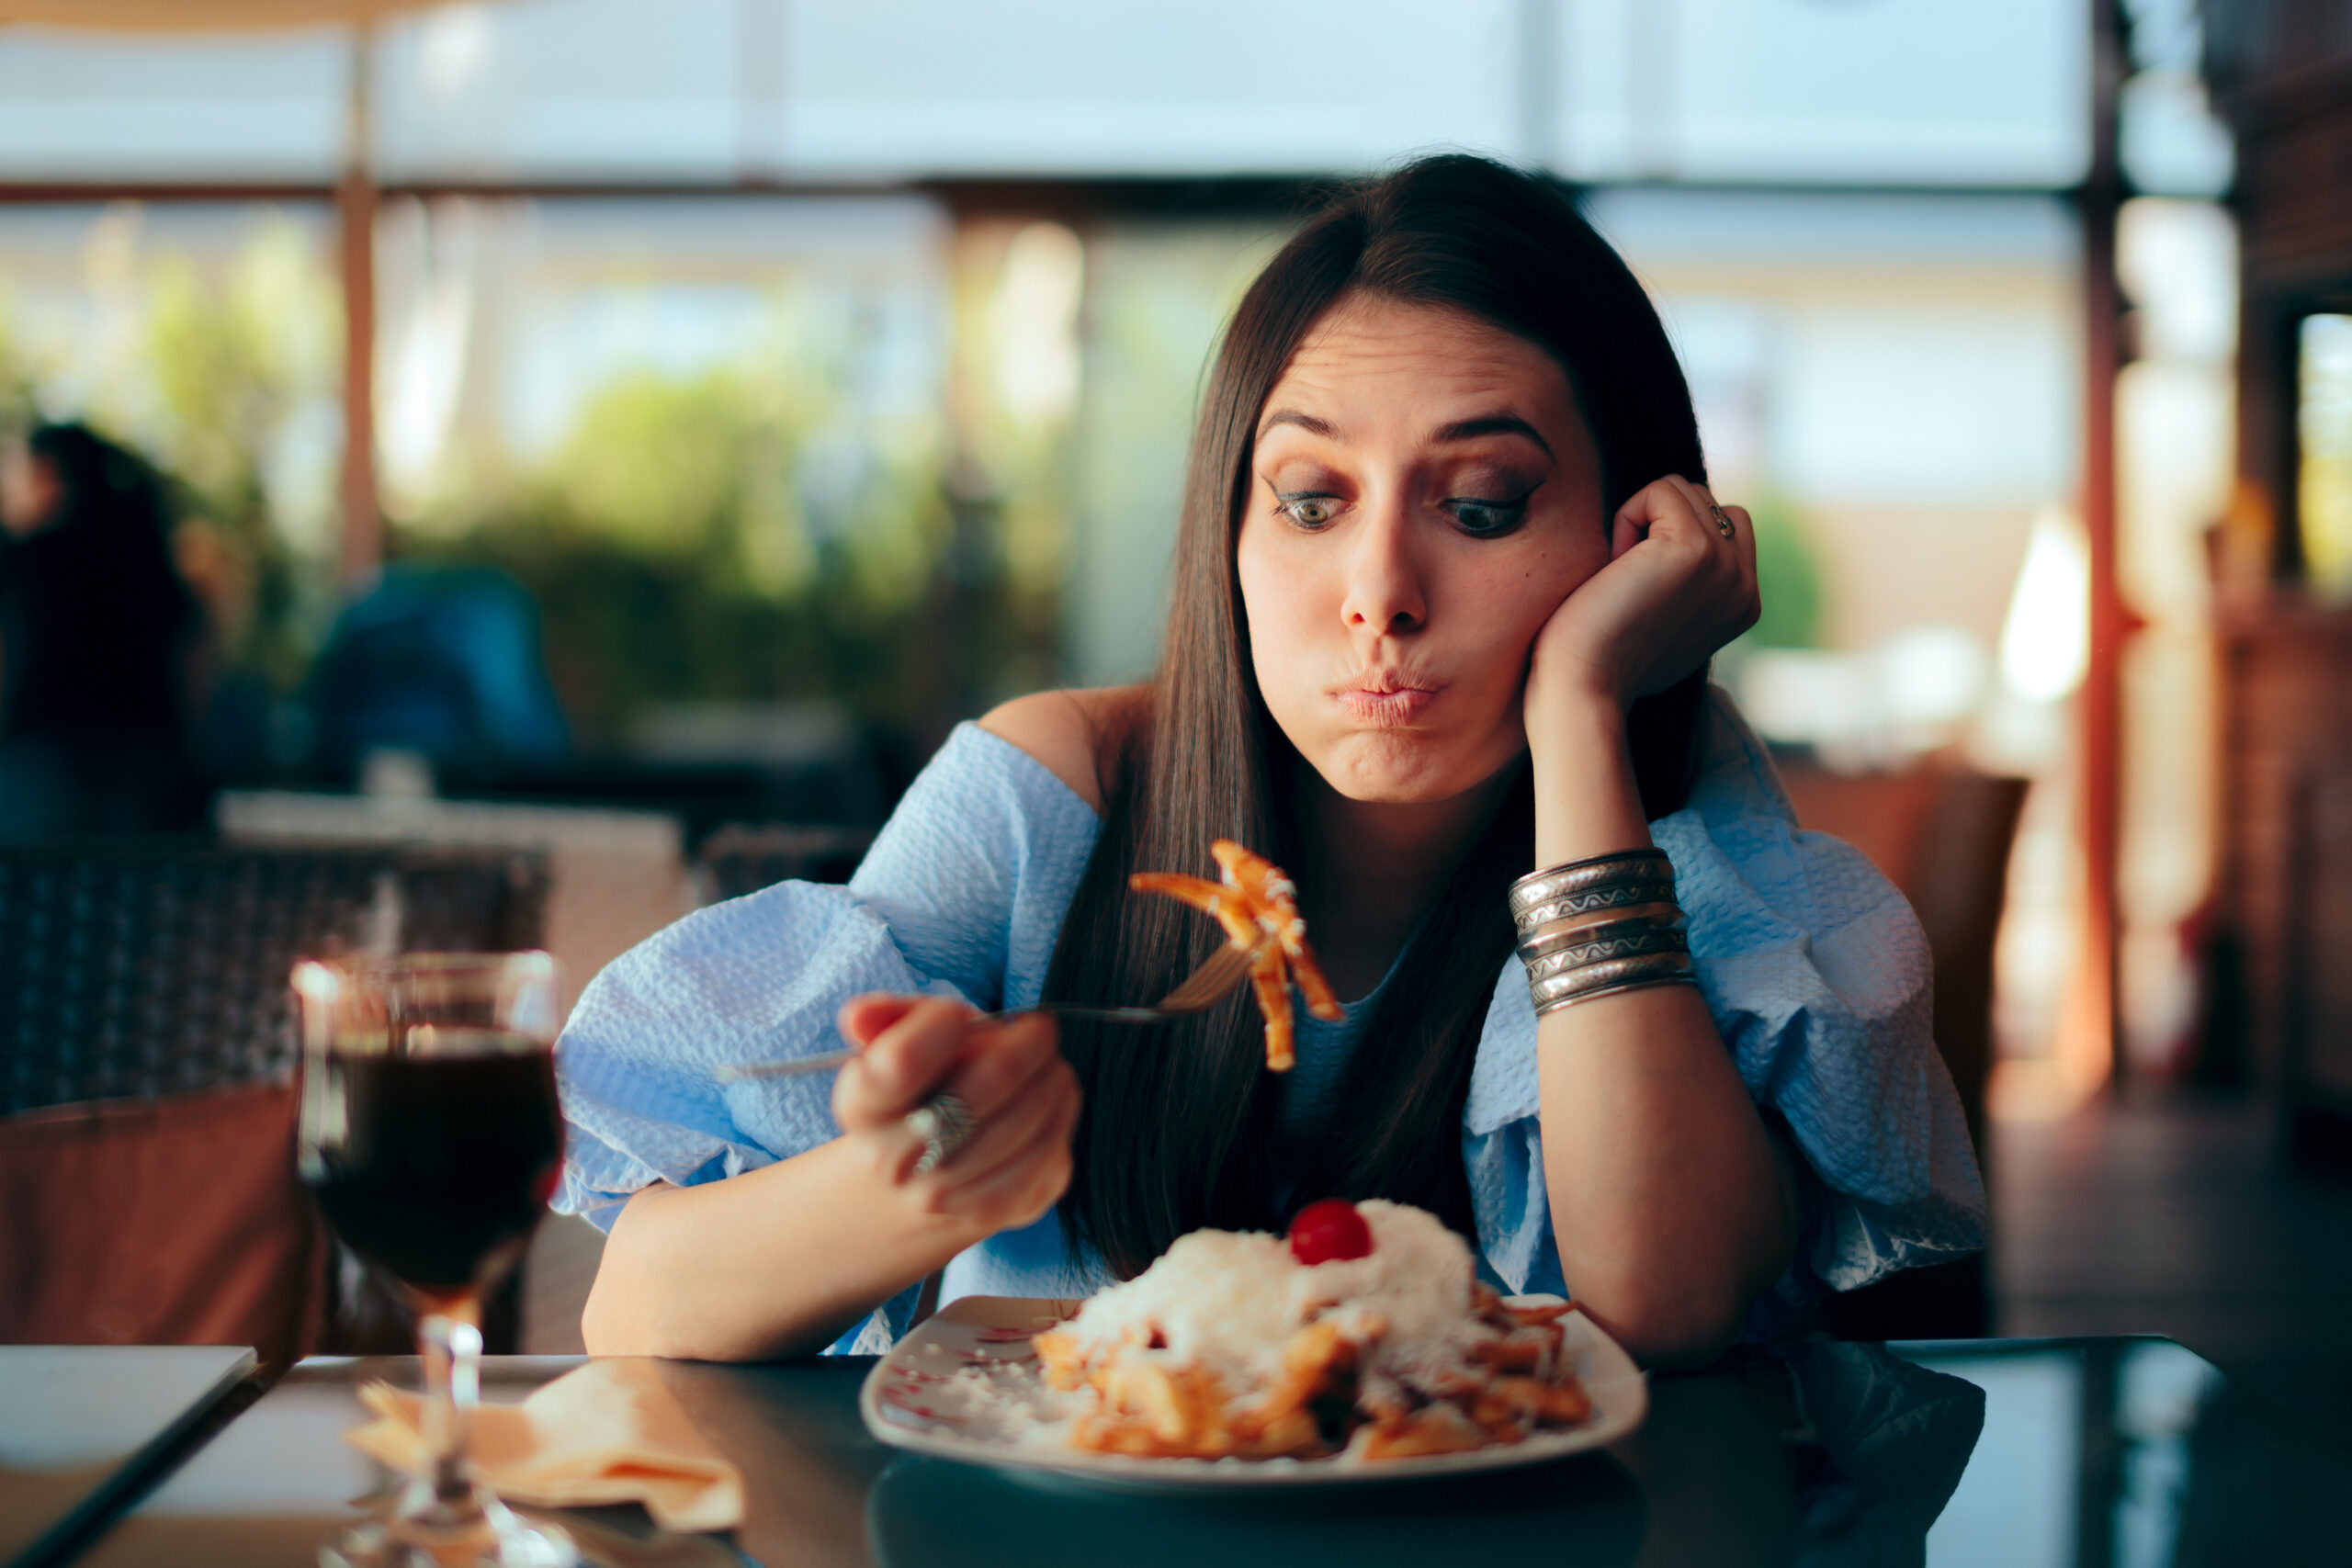
[[[1035,1342],[1077,1448],[1404,1460],[1590,1420],[1566,1312],[1479,1284],[1437,1215],[1324,1201],[1289,1237],[1181,1237]]]

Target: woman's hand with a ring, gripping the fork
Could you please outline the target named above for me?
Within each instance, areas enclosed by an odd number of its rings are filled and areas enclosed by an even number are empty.
[[[840,1027],[863,1048],[833,1084],[833,1117],[917,1213],[988,1237],[1061,1201],[1080,1091],[1051,1018],[981,1020],[941,997],[870,994],[842,1006]],[[924,1143],[906,1119],[936,1093],[962,1100],[978,1131],[953,1159],[917,1173]]]

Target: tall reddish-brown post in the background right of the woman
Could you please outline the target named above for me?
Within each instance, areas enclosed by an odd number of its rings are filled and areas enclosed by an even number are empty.
[[[2091,0],[2091,172],[2082,186],[2082,527],[2091,545],[2091,658],[2084,670],[2082,867],[2084,950],[2077,1044],[2086,1077],[2122,1088],[2117,997],[2117,849],[2122,839],[2122,658],[2129,635],[2114,578],[2114,378],[2122,369],[2122,292],[2114,280],[2114,223],[2124,205],[2117,160],[2117,99],[2124,78],[2122,0]],[[2100,1060],[2105,1058],[2105,1060]],[[2096,1081],[2096,1077],[2093,1077]]]

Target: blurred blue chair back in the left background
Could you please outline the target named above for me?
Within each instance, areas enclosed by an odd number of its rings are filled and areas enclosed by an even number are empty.
[[[372,750],[496,773],[569,752],[539,651],[539,607],[485,567],[388,567],[336,618],[303,691],[313,764],[350,773]]]

